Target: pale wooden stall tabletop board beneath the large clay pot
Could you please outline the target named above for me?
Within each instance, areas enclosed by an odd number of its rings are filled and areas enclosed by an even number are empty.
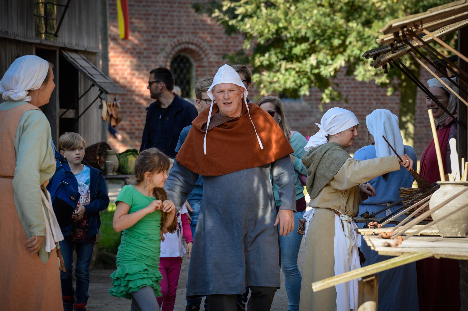
[[[468,238],[414,236],[404,240],[398,247],[383,246],[383,243],[386,241],[394,241],[379,239],[373,235],[365,235],[364,240],[379,255],[399,256],[408,253],[430,251],[436,258],[468,259]]]

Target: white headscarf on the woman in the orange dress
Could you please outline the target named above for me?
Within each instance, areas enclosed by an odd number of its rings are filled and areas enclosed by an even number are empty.
[[[36,56],[16,58],[0,81],[0,94],[7,101],[31,101],[28,91],[37,90],[49,72],[49,62]]]

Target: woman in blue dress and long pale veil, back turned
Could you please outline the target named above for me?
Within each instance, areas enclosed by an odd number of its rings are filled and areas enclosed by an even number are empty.
[[[408,154],[413,160],[413,169],[417,169],[417,157],[413,147],[403,145],[402,134],[398,126],[398,117],[387,109],[374,110],[366,117],[368,139],[370,145],[362,147],[354,153],[354,159],[367,160],[395,155],[388,144],[382,138],[384,135],[388,142],[395,148],[398,154]],[[386,205],[400,200],[399,189],[401,187],[410,188],[414,181],[413,176],[403,167],[395,172],[375,177],[369,181],[375,189],[376,195],[369,197],[359,204],[359,215],[368,211],[377,212],[385,208]],[[384,217],[389,213],[399,209],[402,205],[396,205],[377,215]],[[358,224],[363,227],[364,224]],[[394,226],[386,225],[386,226]],[[371,250],[361,236],[361,252],[366,257],[363,266],[387,260],[390,257],[381,256]],[[419,310],[419,300],[417,297],[416,263],[412,262],[404,266],[382,271],[379,273],[379,311],[390,310]]]

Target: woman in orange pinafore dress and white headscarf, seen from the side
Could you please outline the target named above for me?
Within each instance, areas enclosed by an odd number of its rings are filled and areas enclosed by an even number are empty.
[[[63,236],[41,186],[56,165],[51,127],[38,107],[54,87],[51,64],[34,55],[17,58],[0,81],[7,100],[0,104],[2,310],[63,309],[55,248]]]

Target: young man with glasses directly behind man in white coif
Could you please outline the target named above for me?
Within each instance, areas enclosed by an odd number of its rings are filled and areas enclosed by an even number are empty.
[[[197,82],[197,85],[195,85],[195,97],[197,106],[202,110],[204,110],[205,108],[210,108],[210,105],[212,104],[211,98],[208,97],[208,95],[206,94],[212,83],[212,77],[205,77],[199,80]],[[189,134],[191,128],[191,124],[183,128],[182,132],[180,133],[179,142],[177,143],[176,152],[179,152],[179,149],[180,147],[182,147],[182,144],[185,141],[185,138],[187,138],[187,135]],[[187,210],[189,210],[187,217],[190,220],[190,229],[192,230],[193,237],[195,237],[195,228],[197,227],[198,214],[200,213],[202,195],[203,177],[200,175],[198,177],[197,183],[195,184],[195,188],[193,188],[192,192],[190,192],[189,196],[187,196],[187,201],[185,201],[185,207],[187,208]],[[185,311],[199,311],[201,302],[202,297],[197,297],[194,299],[189,299],[187,297],[187,306],[185,307]]]

